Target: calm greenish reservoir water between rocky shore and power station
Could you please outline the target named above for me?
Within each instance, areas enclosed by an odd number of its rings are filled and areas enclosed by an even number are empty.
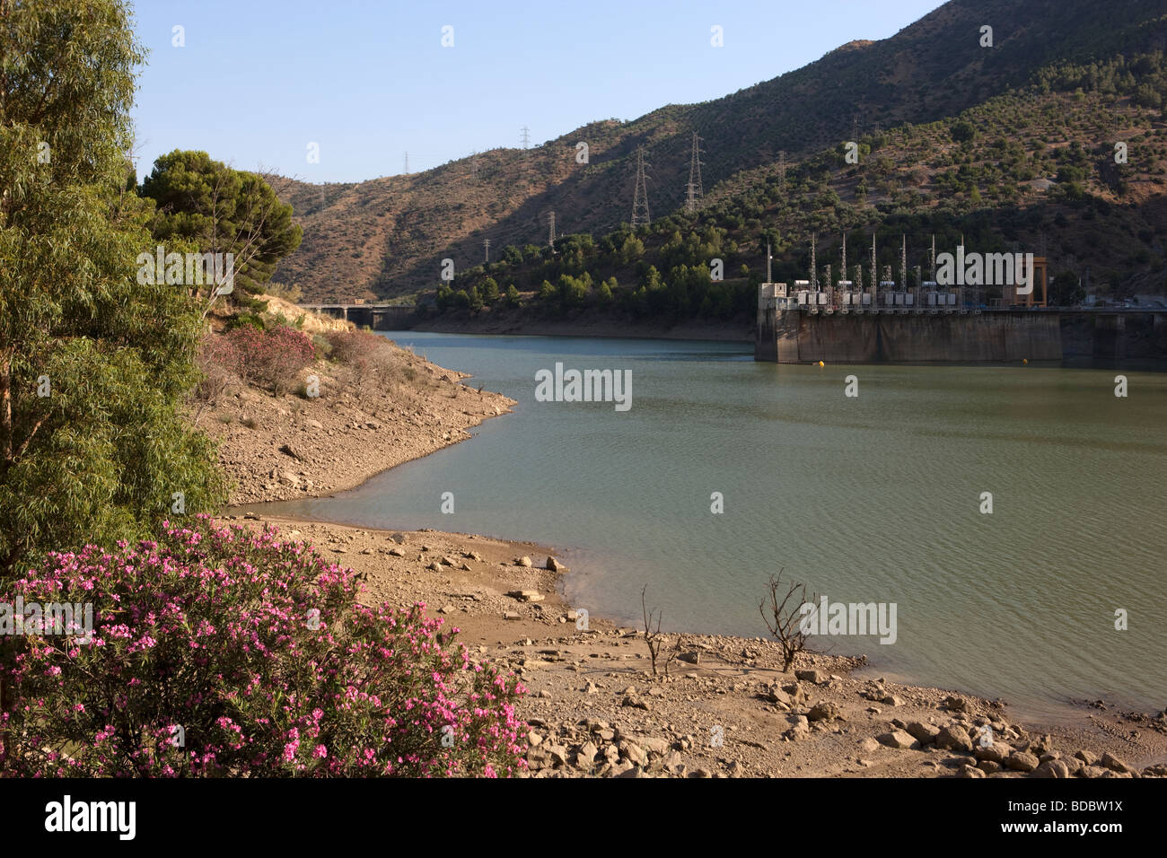
[[[1030,711],[1167,705],[1165,375],[1125,372],[1124,399],[1113,370],[790,367],[739,343],[389,336],[519,405],[359,489],[272,511],[543,542],[566,551],[573,606],[631,623],[648,585],[665,626],[693,632],[766,634],[757,604],[784,568],[831,601],[896,604],[893,644],[813,644],[865,653],[888,676]],[[557,361],[631,370],[631,410],[536,402],[536,371]]]

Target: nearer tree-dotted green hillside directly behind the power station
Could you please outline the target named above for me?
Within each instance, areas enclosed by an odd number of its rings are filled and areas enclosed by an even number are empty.
[[[1167,61],[1161,53],[1042,69],[1032,85],[958,117],[902,125],[780,169],[771,163],[714,187],[692,215],[636,230],[562,236],[555,246],[503,247],[495,263],[461,270],[427,295],[440,320],[607,318],[636,323],[753,320],[766,251],[773,277],[869,278],[872,236],[880,277],[909,285],[937,252],[964,242],[984,252],[1028,250],[1050,264],[1050,302],[1086,288],[1113,300],[1167,291]],[[1116,142],[1124,163],[1116,162]],[[1106,236],[1105,239],[1102,237]],[[712,275],[720,260],[721,279]],[[993,298],[993,294],[986,298]],[[516,312],[522,308],[520,312]]]

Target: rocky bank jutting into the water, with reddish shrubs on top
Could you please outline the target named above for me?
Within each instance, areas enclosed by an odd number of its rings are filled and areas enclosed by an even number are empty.
[[[513,405],[349,322],[277,309],[217,327],[189,410],[218,441],[232,503],[352,488]]]

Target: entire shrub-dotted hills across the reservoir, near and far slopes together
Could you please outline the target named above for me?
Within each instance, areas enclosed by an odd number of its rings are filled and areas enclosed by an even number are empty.
[[[986,22],[992,48],[979,43]],[[523,300],[555,291],[557,313],[575,312],[582,291],[594,315],[612,316],[602,309],[610,291],[629,316],[722,318],[749,312],[749,282],[764,274],[766,239],[775,238],[767,233],[783,238],[771,246],[789,279],[806,277],[811,231],[838,242],[847,229],[868,245],[871,231],[880,233],[880,266],[897,266],[890,243],[901,231],[911,233],[909,266],[932,231],[949,249],[964,232],[983,252],[1044,242],[1063,284],[1072,274],[1076,286],[1089,267],[1100,294],[1162,292],[1165,40],[1167,18],[1153,0],[1112,4],[1105,19],[1091,0],[951,0],[890,39],[845,44],[724,98],[589,123],[531,149],[491,149],[355,184],[270,176],[303,228],[279,279],[313,300],[420,291],[428,302],[447,286],[455,307],[475,312],[480,299],[494,305],[491,277],[501,295],[511,285]],[[686,214],[693,132],[705,196]],[[858,163],[844,161],[848,141],[861,152]],[[1128,147],[1123,165],[1114,162],[1119,141]],[[634,231],[640,147],[656,219]],[[553,251],[551,210],[564,233]],[[708,230],[726,237],[719,286],[687,279],[718,245]],[[1119,242],[1097,238],[1107,232]],[[483,268],[488,238],[494,261]],[[684,252],[662,252],[666,244]],[[454,284],[439,280],[446,258]],[[679,265],[690,273],[672,274]],[[672,292],[666,300],[652,298],[650,267]],[[585,273],[582,284],[559,280]]]

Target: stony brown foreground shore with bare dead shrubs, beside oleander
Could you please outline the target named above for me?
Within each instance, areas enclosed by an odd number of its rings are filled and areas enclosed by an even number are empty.
[[[669,635],[680,657],[654,676],[643,629],[576,628],[553,547],[237,511],[357,570],[363,600],[425,602],[522,677],[531,776],[1167,776],[1165,713],[1022,724],[1000,702],[855,676],[861,658],[803,653],[783,672],[773,641],[722,635]]]

